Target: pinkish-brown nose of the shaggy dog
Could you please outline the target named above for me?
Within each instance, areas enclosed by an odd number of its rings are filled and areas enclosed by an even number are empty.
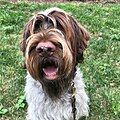
[[[55,45],[50,41],[40,42],[40,43],[38,43],[38,45],[36,47],[36,51],[38,53],[52,54],[55,51],[55,49],[56,49]]]

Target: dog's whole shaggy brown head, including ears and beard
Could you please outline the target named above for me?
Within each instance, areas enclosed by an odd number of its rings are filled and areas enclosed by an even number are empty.
[[[21,41],[25,65],[49,96],[58,97],[69,86],[89,38],[89,33],[61,9],[46,10],[28,21]]]

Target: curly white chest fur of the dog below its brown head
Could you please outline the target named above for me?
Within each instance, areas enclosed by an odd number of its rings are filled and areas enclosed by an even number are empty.
[[[40,82],[27,75],[25,94],[28,103],[28,120],[73,120],[71,107],[71,93],[64,93],[57,101],[52,101],[42,89]],[[88,97],[85,84],[79,69],[74,79],[77,120],[81,116],[88,116]]]

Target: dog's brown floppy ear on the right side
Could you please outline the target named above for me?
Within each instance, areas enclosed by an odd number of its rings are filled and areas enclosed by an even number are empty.
[[[76,62],[82,63],[83,53],[88,46],[90,34],[89,32],[82,27],[73,17],[69,16],[70,22],[73,28],[74,33],[74,42],[75,42],[75,53],[76,53]]]

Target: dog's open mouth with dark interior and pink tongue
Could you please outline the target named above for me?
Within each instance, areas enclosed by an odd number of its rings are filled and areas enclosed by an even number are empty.
[[[56,80],[58,78],[58,65],[54,60],[45,60],[42,70],[46,80]]]

